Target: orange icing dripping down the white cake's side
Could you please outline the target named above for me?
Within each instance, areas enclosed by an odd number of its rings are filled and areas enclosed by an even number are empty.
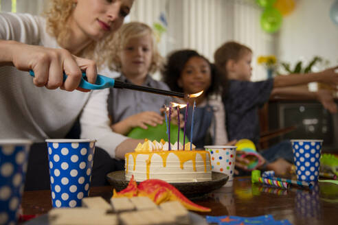
[[[151,158],[153,157],[153,154],[159,154],[161,156],[162,161],[163,161],[163,166],[166,167],[166,162],[168,155],[170,153],[175,154],[180,161],[181,169],[183,169],[183,164],[187,161],[192,161],[192,166],[194,168],[194,171],[196,171],[196,154],[199,153],[203,159],[204,162],[204,171],[207,172],[207,160],[206,154],[210,154],[209,152],[205,151],[166,151],[166,152],[131,152],[126,154],[126,173],[128,173],[128,163],[129,163],[129,155],[133,156],[133,161],[134,161],[134,171],[136,167],[136,157],[138,154],[149,154],[148,159],[146,160],[146,174],[147,174],[147,179],[149,179],[149,171],[150,171],[150,164],[151,164]],[[211,162],[210,162],[210,168],[211,168]]]

